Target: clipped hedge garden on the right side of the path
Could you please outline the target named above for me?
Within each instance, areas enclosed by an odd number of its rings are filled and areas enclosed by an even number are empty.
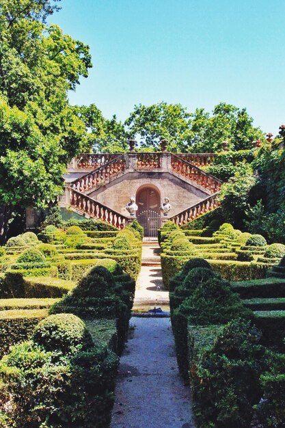
[[[167,222],[159,241],[197,426],[284,427],[285,246],[215,221]]]

